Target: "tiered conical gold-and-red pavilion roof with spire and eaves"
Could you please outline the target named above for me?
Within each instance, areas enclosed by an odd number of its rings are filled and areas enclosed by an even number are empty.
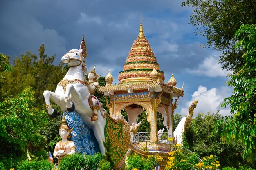
[[[164,82],[164,72],[160,71],[157,59],[152,48],[143,33],[142,22],[140,24],[139,35],[132,44],[132,48],[126,58],[123,71],[119,72],[117,85],[112,84],[113,78],[109,74],[106,76],[106,86],[100,86],[99,92],[142,90],[148,88],[162,88],[167,93],[175,93],[183,96],[183,88],[177,88],[173,75],[168,83]]]

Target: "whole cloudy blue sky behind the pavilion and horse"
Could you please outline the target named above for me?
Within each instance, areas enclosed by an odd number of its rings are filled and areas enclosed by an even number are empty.
[[[189,25],[192,9],[180,0],[2,0],[0,5],[0,53],[12,58],[45,44],[45,53],[56,54],[55,64],[70,49],[78,49],[82,35],[88,49],[88,70],[106,76],[108,69],[118,83],[119,71],[139,34],[140,13],[144,34],[157,57],[166,80],[174,75],[184,97],[175,112],[199,99],[198,112],[229,115],[220,108],[232,89],[224,84],[227,71],[218,64],[219,51],[201,47],[205,39]],[[225,72],[225,73],[223,73]],[[194,115],[194,116],[195,116]]]

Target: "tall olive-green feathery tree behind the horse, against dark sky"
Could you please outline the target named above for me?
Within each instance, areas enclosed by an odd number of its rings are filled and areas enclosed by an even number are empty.
[[[54,91],[56,84],[62,79],[61,66],[54,66],[55,55],[48,57],[45,54],[45,46],[38,49],[39,55],[26,51],[17,57],[12,64],[13,71],[7,73],[2,92],[17,96],[27,87],[34,90],[36,106],[44,108],[43,92],[47,89]]]

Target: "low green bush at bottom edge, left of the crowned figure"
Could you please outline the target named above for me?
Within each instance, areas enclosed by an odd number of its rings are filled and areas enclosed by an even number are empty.
[[[48,159],[42,161],[21,161],[17,165],[17,170],[52,170],[53,164]]]

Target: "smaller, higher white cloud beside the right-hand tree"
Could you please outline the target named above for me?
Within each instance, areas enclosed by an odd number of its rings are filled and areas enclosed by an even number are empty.
[[[227,71],[224,73],[222,70],[221,65],[218,64],[218,56],[211,55],[207,57],[202,64],[199,64],[197,69],[189,70],[189,73],[196,74],[196,75],[206,75],[208,77],[226,77]]]

